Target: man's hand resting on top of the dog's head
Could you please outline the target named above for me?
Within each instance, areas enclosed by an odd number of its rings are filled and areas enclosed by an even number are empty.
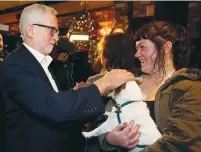
[[[135,76],[126,70],[113,69],[107,72],[104,77],[94,82],[98,87],[101,95],[104,95],[107,91],[115,89],[127,81],[135,81]]]

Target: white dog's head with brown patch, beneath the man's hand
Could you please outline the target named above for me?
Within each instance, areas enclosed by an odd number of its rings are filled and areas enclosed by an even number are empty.
[[[112,97],[118,104],[127,101],[142,101],[143,99],[142,91],[136,81],[127,82],[108,96]]]

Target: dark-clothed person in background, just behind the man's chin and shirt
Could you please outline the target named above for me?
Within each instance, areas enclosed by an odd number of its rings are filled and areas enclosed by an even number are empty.
[[[61,90],[72,90],[76,84],[86,82],[95,74],[88,63],[88,52],[77,50],[68,38],[59,38],[57,54],[50,67]]]

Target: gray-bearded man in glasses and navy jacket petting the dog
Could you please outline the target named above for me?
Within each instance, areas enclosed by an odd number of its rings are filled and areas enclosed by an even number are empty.
[[[101,95],[135,79],[131,73],[116,69],[89,87],[59,91],[48,69],[52,61],[48,54],[58,40],[56,14],[45,5],[26,7],[20,19],[24,43],[2,64],[0,88],[7,118],[6,152],[76,151],[69,149],[70,130],[66,124],[103,113]]]

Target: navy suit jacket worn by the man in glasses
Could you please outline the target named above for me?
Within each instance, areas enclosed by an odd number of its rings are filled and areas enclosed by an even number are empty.
[[[68,149],[67,122],[104,112],[95,85],[56,93],[43,68],[24,45],[4,60],[0,73],[6,152],[72,151]]]

